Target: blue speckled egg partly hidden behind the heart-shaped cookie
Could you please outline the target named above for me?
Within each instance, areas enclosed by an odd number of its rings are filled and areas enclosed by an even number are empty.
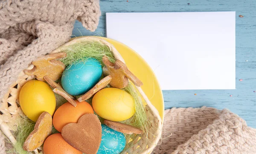
[[[125,135],[102,125],[102,141],[97,154],[119,154],[125,148]]]

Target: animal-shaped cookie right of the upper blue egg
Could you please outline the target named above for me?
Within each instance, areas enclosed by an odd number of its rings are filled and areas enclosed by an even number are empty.
[[[122,61],[116,60],[113,64],[106,56],[104,56],[102,62],[105,64],[103,67],[104,76],[111,75],[112,77],[112,80],[110,81],[112,87],[122,89],[128,85],[128,79],[130,79],[136,86],[140,87],[143,85],[140,79],[134,76]]]

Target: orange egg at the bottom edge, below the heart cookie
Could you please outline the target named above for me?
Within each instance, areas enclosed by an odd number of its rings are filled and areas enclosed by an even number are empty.
[[[44,141],[44,154],[82,154],[69,145],[60,133],[52,134]]]

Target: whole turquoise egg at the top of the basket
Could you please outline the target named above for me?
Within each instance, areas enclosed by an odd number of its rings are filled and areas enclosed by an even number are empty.
[[[89,91],[102,76],[102,67],[95,58],[78,61],[64,70],[61,77],[63,89],[70,95],[82,95]]]

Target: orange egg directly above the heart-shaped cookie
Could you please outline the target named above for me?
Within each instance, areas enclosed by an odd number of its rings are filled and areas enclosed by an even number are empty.
[[[93,113],[93,108],[89,103],[75,101],[76,107],[67,102],[54,113],[52,123],[57,131],[61,132],[62,128],[69,123],[77,123],[78,119],[84,114]]]

